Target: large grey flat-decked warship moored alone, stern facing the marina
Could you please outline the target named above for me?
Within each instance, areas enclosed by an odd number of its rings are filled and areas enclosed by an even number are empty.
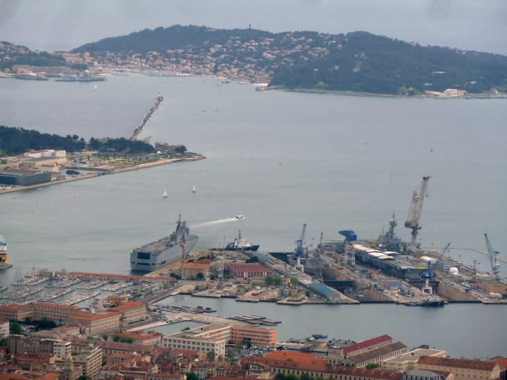
[[[136,248],[131,253],[131,270],[153,272],[181,260],[194,249],[199,238],[190,235],[187,223],[179,215],[176,230],[166,238]]]

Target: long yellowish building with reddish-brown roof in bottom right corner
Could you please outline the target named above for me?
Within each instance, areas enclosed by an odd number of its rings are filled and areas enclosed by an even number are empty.
[[[492,361],[421,356],[417,367],[419,370],[452,372],[455,380],[494,380],[500,377],[500,366]]]

